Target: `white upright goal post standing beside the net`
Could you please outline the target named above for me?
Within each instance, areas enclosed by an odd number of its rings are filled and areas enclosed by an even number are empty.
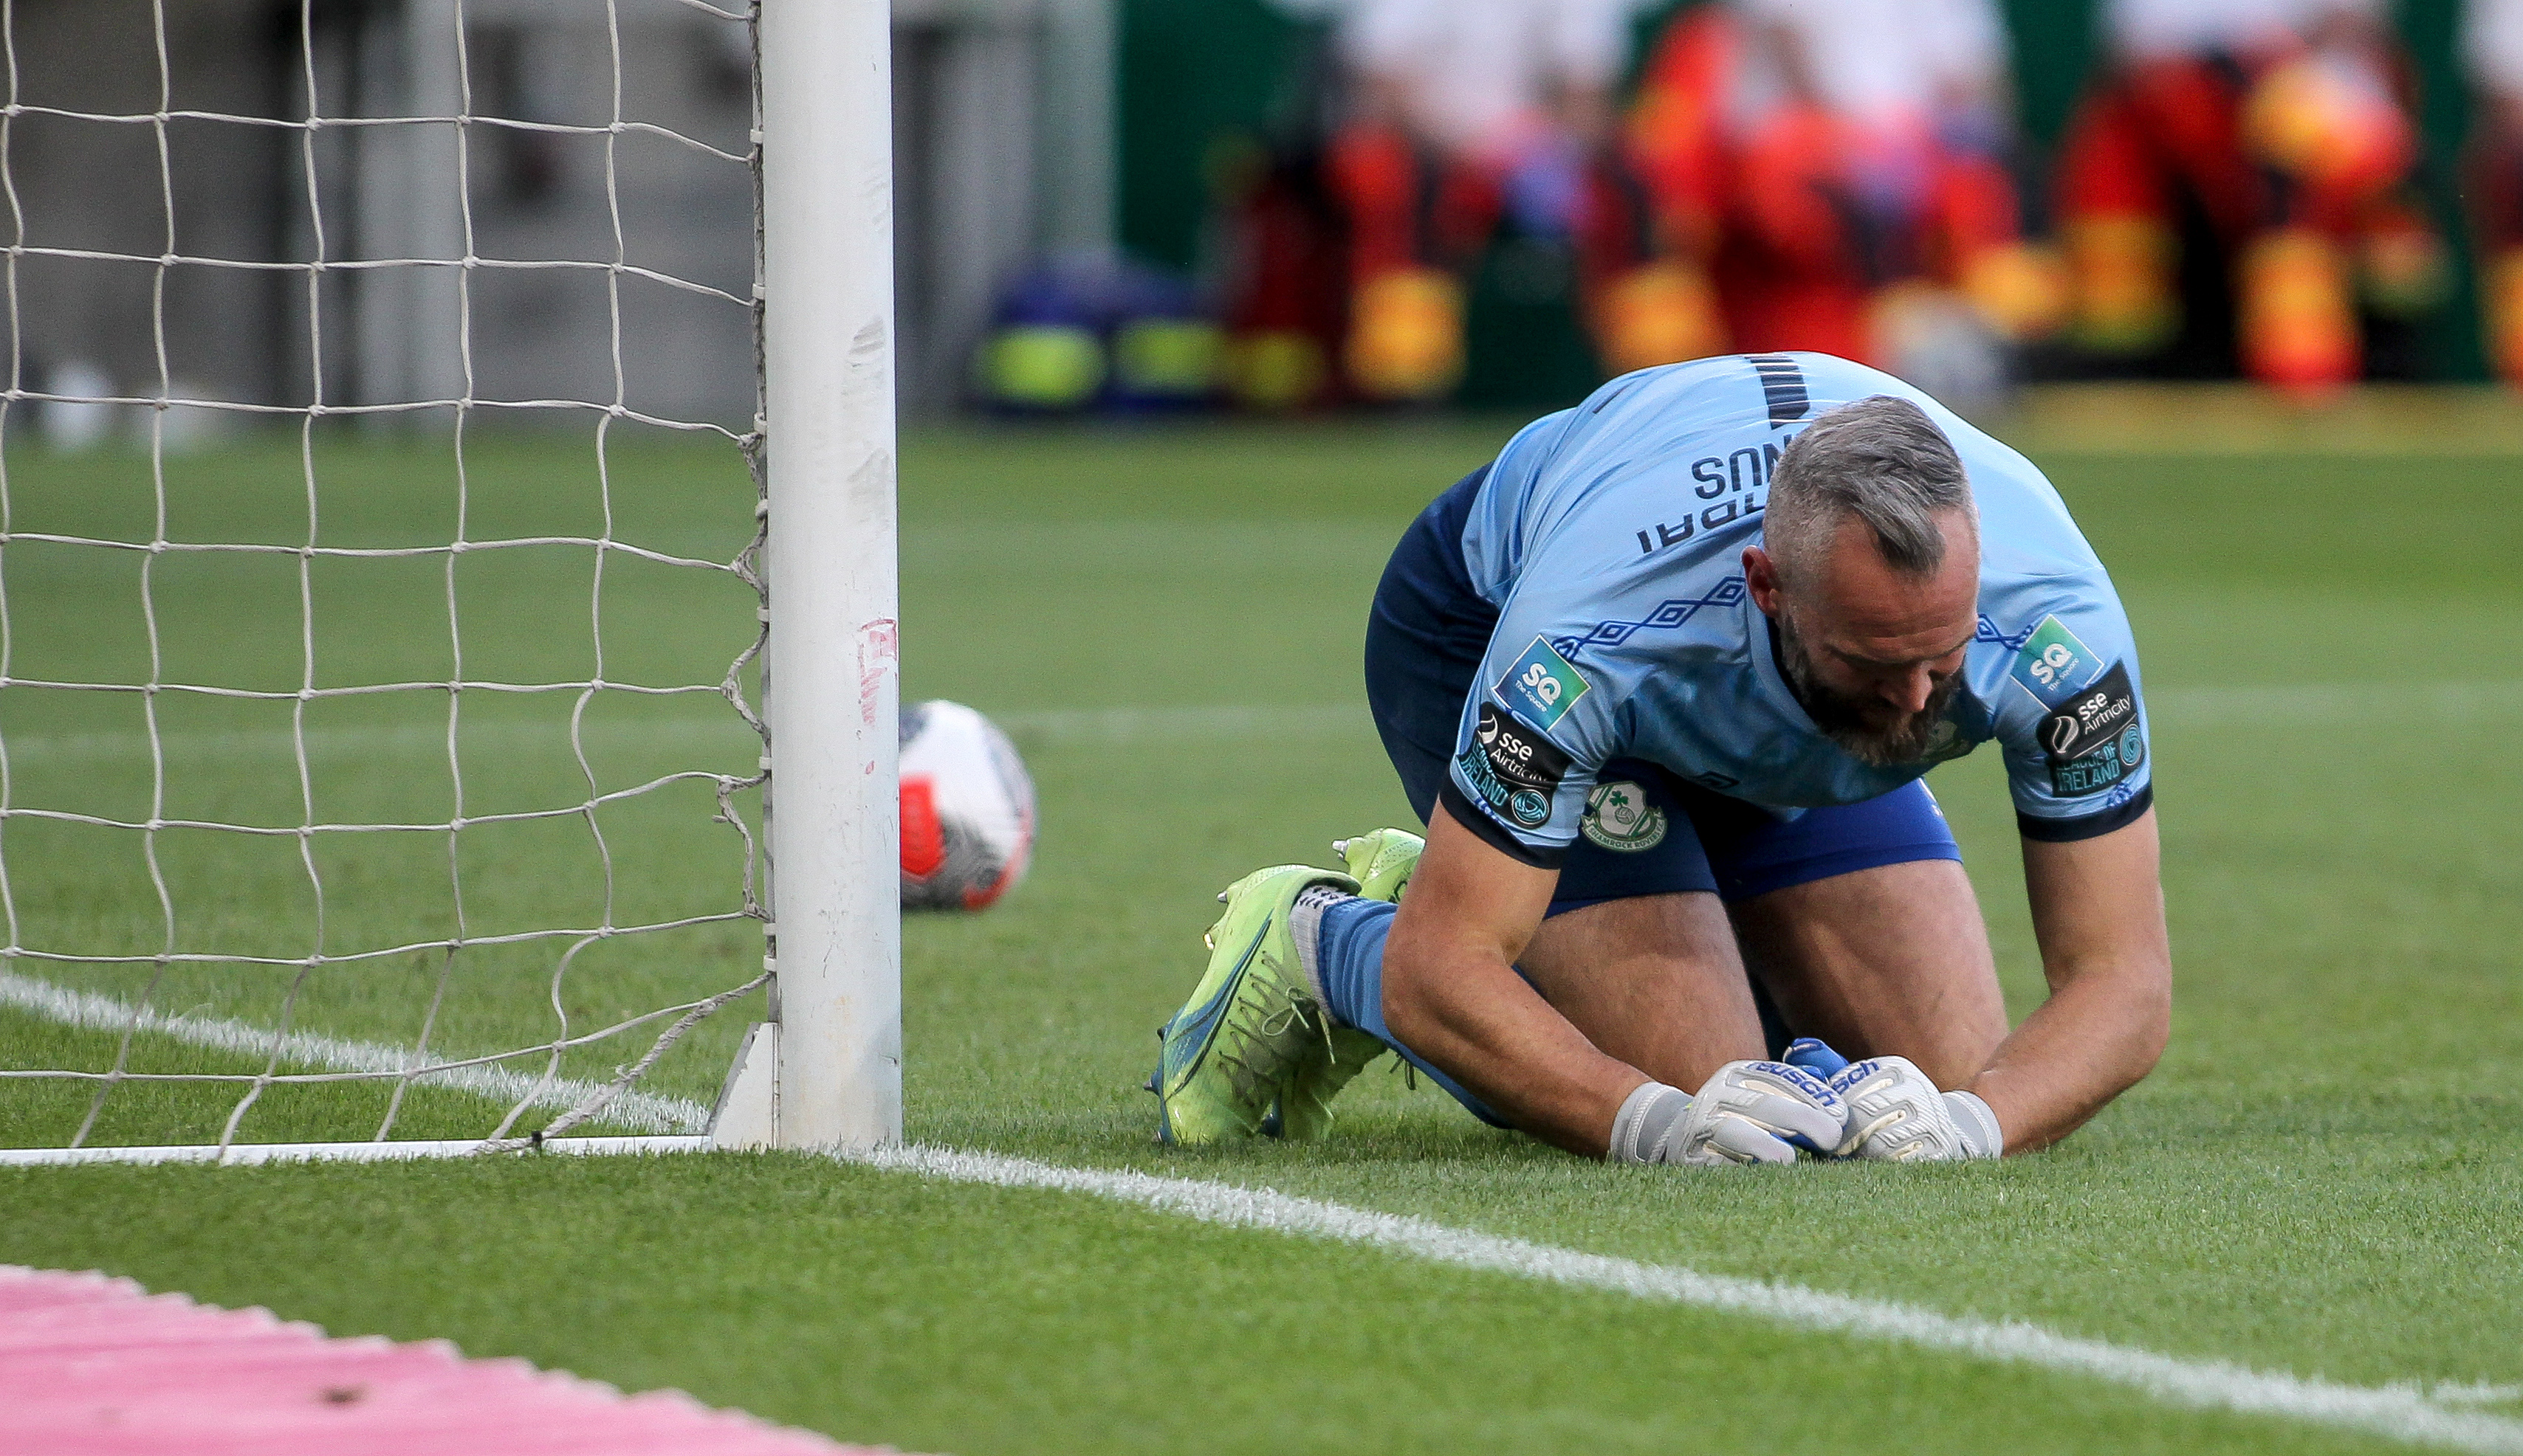
[[[757,56],[780,911],[777,1095],[767,1128],[744,1136],[891,1143],[903,1133],[891,8],[762,0]]]

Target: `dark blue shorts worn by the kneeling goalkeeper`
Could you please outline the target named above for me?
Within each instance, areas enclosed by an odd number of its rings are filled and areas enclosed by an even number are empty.
[[[1410,522],[1367,616],[1367,707],[1420,823],[1446,782],[1463,699],[1499,623],[1499,608],[1481,601],[1463,570],[1463,520],[1486,474],[1489,467],[1466,474]],[[1642,813],[1630,823],[1653,825],[1663,815],[1663,833],[1632,833],[1637,848],[1592,838],[1569,845],[1554,916],[1678,891],[1748,901],[1877,866],[1963,858],[1935,795],[1917,780],[1796,818],[1703,790],[1645,760],[1612,760],[1595,782],[1632,787]]]

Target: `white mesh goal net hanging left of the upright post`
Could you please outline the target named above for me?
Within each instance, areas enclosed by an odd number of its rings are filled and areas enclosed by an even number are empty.
[[[429,1098],[424,1133],[487,1146],[699,1130],[691,1095],[633,1088],[764,982],[752,13],[295,0],[272,114],[247,114],[182,106],[217,5],[131,0],[119,61],[154,68],[154,103],[126,111],[40,93],[38,10],[0,0],[0,1143],[394,1138]],[[588,40],[560,101],[517,83],[537,33]],[[734,71],[732,136],[641,114],[638,71],[676,58]],[[151,174],[111,179],[154,194],[146,242],[45,225],[58,189],[30,177],[68,136],[149,141]],[[204,146],[262,146],[285,197],[192,217]],[[626,222],[659,146],[734,207]],[[575,177],[520,199],[535,149]],[[278,214],[280,242],[199,247],[230,209]],[[492,250],[484,212],[595,247]],[[71,270],[139,303],[136,379],[43,363],[114,320],[45,313]],[[517,336],[510,275],[600,288],[600,323],[487,348]],[[187,358],[232,346],[194,305],[220,280],[270,326],[235,338],[278,338],[260,399],[187,389]],[[734,419],[724,384],[719,416],[636,389],[694,305],[742,341]],[[535,348],[570,358],[535,376]],[[68,452],[96,419],[121,442]],[[681,1088],[709,1077],[694,1057]]]

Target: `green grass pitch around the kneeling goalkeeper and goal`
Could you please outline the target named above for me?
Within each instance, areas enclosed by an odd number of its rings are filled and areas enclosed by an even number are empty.
[[[1007,722],[1042,790],[1032,878],[906,926],[908,1130],[1055,1163],[1272,1186],[1557,1247],[1900,1300],[2359,1385],[2478,1383],[2523,1416],[2523,497],[2510,459],[2044,457],[2137,621],[2177,959],[2162,1067],[2054,1153],[1968,1168],[1615,1171],[1473,1125],[1370,1072],[1320,1148],[1150,1146],[1153,1027],[1196,977],[1211,893],[1405,810],[1365,722],[1357,641],[1410,512],[1504,426],[976,432],[903,454],[906,696]],[[10,457],[10,530],[151,532],[144,459]],[[439,449],[328,442],[323,540],[452,540]],[[616,535],[727,558],[749,484],[724,449],[616,452]],[[293,444],[177,457],[172,540],[305,540]],[[477,447],[467,535],[598,527],[585,442]],[[144,681],[131,553],[13,540],[10,676]],[[300,681],[298,563],[156,558],[161,676]],[[749,590],[616,560],[608,681],[717,681]],[[464,674],[590,676],[593,553],[459,563]],[[442,558],[318,570],[318,681],[452,676]],[[479,702],[474,702],[479,696]],[[1201,714],[1163,709],[1256,709]],[[300,823],[288,704],[161,699],[164,813]],[[444,820],[444,696],[310,704],[328,820]],[[464,813],[568,805],[568,699],[467,694]],[[8,689],[10,802],[146,818],[134,699]],[[603,694],[600,787],[749,737],[706,699]],[[1993,754],[1933,780],[2016,1014],[2041,994]],[[734,903],[701,790],[600,813],[616,921]],[[742,800],[739,810],[752,813]],[[28,946],[154,954],[131,830],[8,825]],[[464,830],[477,934],[603,908],[585,820]],[[161,835],[187,949],[313,946],[298,840]],[[325,946],[439,934],[444,835],[323,843]],[[550,1037],[550,946],[464,951],[434,1045]],[[593,946],[573,1027],[749,974],[747,924]],[[177,969],[156,1004],[409,1040],[429,956],[298,977]],[[40,966],[101,994],[139,972]],[[651,1090],[709,1100],[757,1004]],[[0,1067],[103,1065],[114,1040],[0,1012]],[[568,1062],[603,1075],[616,1045]],[[141,1037],[134,1067],[252,1070]],[[232,1090],[126,1085],[101,1141],[217,1136]],[[0,1143],[61,1141],[88,1090],[0,1083]],[[368,1136],[373,1088],[275,1090],[247,1141]],[[497,1108],[419,1093],[399,1136]],[[681,1385],[911,1451],[2331,1451],[2382,1438],[2180,1411],[2069,1375],[1806,1335],[1375,1249],[1186,1224],[800,1156],[0,1173],[0,1259],[103,1267],[336,1332],[452,1337],[626,1388]],[[2500,1398],[2505,1395],[2505,1398]]]

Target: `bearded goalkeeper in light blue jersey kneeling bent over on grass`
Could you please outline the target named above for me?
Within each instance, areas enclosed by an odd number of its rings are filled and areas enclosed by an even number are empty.
[[[1584,1156],[1993,1158],[2162,1052],[2127,616],[2041,472],[1887,373],[1701,358],[1534,421],[1403,535],[1367,699],[1425,845],[1221,896],[1166,1141],[1322,1136],[1390,1047]],[[2051,987],[2013,1030],[1920,782],[1988,739]]]

